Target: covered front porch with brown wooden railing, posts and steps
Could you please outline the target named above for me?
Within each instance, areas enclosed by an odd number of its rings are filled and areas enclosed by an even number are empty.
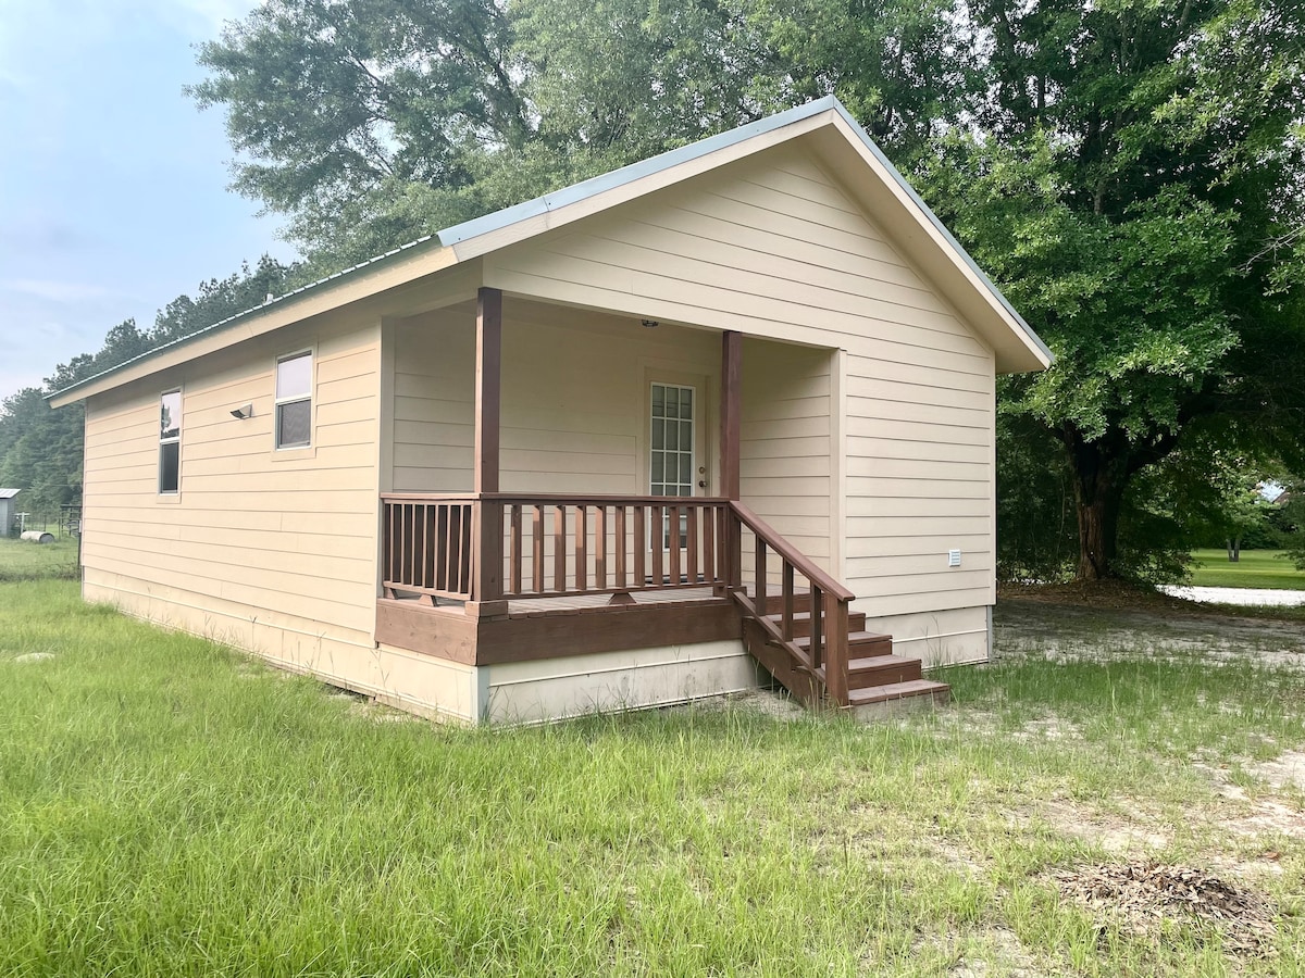
[[[489,288],[466,318],[386,333],[382,647],[489,685],[553,664],[561,699],[591,708],[749,689],[758,662],[810,705],[942,695],[863,631],[821,566],[837,546],[833,351],[757,347],[748,396],[739,333],[505,304]],[[592,385],[577,361],[599,372]],[[749,482],[818,558],[744,503]],[[559,712],[480,699],[488,719]]]

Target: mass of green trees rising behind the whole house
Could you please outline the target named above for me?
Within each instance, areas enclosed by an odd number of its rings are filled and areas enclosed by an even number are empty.
[[[1181,549],[1218,459],[1305,471],[1302,25],[1305,0],[265,0],[192,95],[312,278],[837,94],[1056,353],[1000,385],[998,514],[1045,514],[1002,566],[1053,574],[1077,535],[1096,578]],[[277,291],[257,274],[99,356]]]

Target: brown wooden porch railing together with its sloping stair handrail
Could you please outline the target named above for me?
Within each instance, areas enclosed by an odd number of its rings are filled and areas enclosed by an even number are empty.
[[[538,493],[386,493],[381,501],[389,597],[501,601],[711,587],[732,595],[831,700],[848,703],[855,595],[736,501]],[[809,614],[806,642],[795,640],[800,613]]]

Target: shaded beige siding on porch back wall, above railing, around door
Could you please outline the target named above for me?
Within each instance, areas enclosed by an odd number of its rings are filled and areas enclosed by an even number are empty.
[[[445,310],[398,329],[397,492],[470,492],[475,318]],[[710,333],[522,303],[504,304],[504,492],[645,494],[647,378],[699,382],[711,450],[719,339]],[[650,374],[651,372],[651,374]]]

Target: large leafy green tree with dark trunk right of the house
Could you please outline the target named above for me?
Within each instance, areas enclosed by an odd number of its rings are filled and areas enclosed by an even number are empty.
[[[990,96],[925,185],[1056,353],[1001,395],[1067,455],[1079,576],[1121,570],[1130,480],[1185,438],[1302,458],[1301,12],[974,5]]]

